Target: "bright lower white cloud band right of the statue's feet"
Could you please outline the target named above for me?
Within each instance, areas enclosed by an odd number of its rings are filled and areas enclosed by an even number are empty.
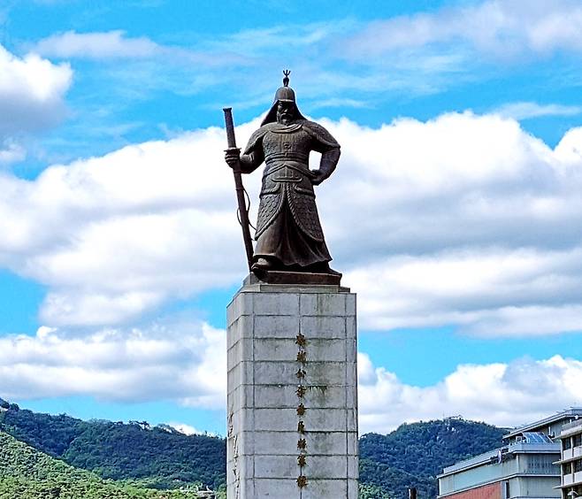
[[[580,249],[537,252],[471,249],[387,257],[347,274],[358,291],[361,325],[461,326],[483,336],[582,329]]]

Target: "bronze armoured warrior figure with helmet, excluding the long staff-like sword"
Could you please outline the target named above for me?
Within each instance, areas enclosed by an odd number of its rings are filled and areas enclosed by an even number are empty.
[[[332,257],[319,223],[313,186],[333,173],[340,144],[324,127],[302,116],[287,76],[243,153],[226,151],[226,163],[234,167],[240,161],[241,173],[251,173],[263,162],[266,165],[251,270],[339,275],[329,266]],[[315,171],[309,168],[312,150],[321,153]]]

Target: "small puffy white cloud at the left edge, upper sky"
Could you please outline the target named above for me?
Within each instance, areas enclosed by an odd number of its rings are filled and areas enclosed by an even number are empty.
[[[51,127],[65,116],[73,71],[35,54],[18,58],[0,45],[0,139]],[[4,150],[5,157],[10,154]],[[12,151],[11,160],[14,160]]]

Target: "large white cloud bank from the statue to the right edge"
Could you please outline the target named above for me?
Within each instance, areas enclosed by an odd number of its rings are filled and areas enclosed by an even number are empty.
[[[364,327],[582,328],[578,130],[555,150],[470,113],[333,133],[342,163],[319,202]],[[543,313],[554,321],[533,319]]]

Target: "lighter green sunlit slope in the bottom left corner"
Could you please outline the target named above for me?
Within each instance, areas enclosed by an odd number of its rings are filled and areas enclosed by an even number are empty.
[[[1,499],[193,499],[194,492],[147,490],[102,480],[0,432]]]

